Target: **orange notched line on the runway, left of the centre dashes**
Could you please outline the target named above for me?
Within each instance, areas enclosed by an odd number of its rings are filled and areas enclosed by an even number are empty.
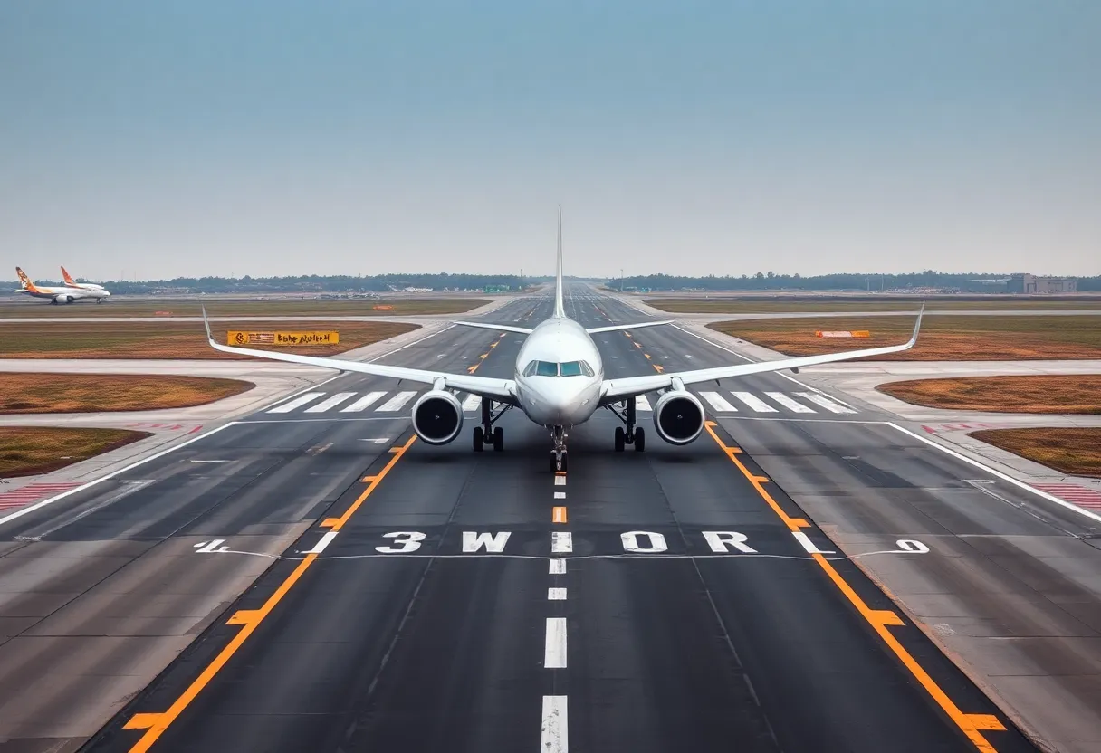
[[[321,537],[321,542],[324,542],[325,545],[336,537],[337,532],[340,531],[345,523],[347,523],[356,511],[359,510],[360,505],[363,504],[367,498],[370,496],[375,489],[378,489],[382,479],[384,479],[386,473],[389,473],[390,470],[397,465],[397,461],[402,459],[402,456],[405,455],[405,451],[408,450],[414,441],[416,441],[416,435],[410,437],[408,440],[401,447],[392,448],[390,451],[393,454],[393,457],[378,473],[364,477],[364,481],[367,481],[367,489],[364,489],[356,501],[351,503],[348,510],[345,511],[345,514],[340,517],[329,517],[321,522],[321,527],[330,530],[325,534],[325,536]],[[259,628],[264,619],[271,614],[272,610],[275,609],[279,602],[283,600],[292,588],[294,588],[294,585],[298,582],[303,574],[305,574],[305,571],[309,569],[309,566],[317,560],[319,550],[324,548],[325,546],[315,546],[314,550],[307,553],[305,558],[303,558],[291,575],[288,575],[282,583],[280,583],[279,588],[275,589],[275,592],[268,598],[268,601],[265,601],[260,609],[238,610],[232,616],[229,618],[229,620],[226,621],[227,625],[241,625],[241,631],[233,636],[233,640],[230,641],[229,644],[221,650],[221,652],[219,652],[219,654],[210,662],[210,664],[206,666],[201,674],[199,674],[199,676],[196,677],[189,686],[187,686],[179,697],[172,702],[172,706],[168,707],[167,711],[161,713],[135,713],[130,718],[130,720],[123,725],[123,729],[145,730],[145,734],[143,734],[141,739],[134,743],[134,745],[130,749],[130,753],[141,753],[142,751],[148,751],[152,747],[153,743],[155,743],[157,739],[164,734],[172,722],[174,722],[179,714],[183,713],[184,709],[186,709],[190,702],[198,697],[199,692],[201,692],[203,689],[210,684],[210,680],[212,680],[218,673],[221,672],[222,667],[226,666],[226,663],[228,663],[229,659],[232,658],[233,654],[236,654],[237,651],[244,645],[244,642],[249,640],[249,636],[255,632],[257,628]]]

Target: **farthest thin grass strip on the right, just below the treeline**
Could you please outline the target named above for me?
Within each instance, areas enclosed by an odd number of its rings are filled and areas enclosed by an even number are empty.
[[[646,298],[643,303],[673,314],[771,314],[783,312],[916,312],[914,301],[745,301],[734,298]],[[928,312],[953,310],[1094,310],[1101,297],[1083,301],[1036,301],[995,298],[992,301],[930,301]]]

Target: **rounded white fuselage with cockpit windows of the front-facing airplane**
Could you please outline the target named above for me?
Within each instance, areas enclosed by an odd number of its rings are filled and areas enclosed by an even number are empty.
[[[520,347],[516,402],[536,424],[576,426],[599,406],[603,379],[603,361],[589,334],[573,319],[555,317],[536,326]]]

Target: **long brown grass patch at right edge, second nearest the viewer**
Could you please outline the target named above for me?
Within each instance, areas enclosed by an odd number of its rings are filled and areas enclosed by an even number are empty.
[[[999,413],[1101,413],[1101,374],[920,379],[887,382],[876,389],[926,407]]]

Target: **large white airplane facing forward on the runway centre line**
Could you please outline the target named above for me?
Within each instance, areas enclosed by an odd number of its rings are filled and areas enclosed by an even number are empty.
[[[924,310],[925,305],[923,304],[922,312]],[[481,451],[486,445],[490,444],[493,445],[494,450],[503,449],[504,438],[501,427],[494,427],[493,424],[505,411],[519,407],[531,421],[550,429],[554,441],[550,451],[550,467],[554,471],[565,471],[567,466],[567,430],[573,426],[584,424],[596,413],[597,408],[610,408],[623,422],[623,426],[615,427],[617,451],[622,451],[625,445],[633,445],[636,450],[643,450],[646,437],[643,429],[635,426],[634,399],[636,395],[647,392],[661,392],[661,397],[657,399],[653,407],[654,429],[657,432],[657,436],[669,444],[687,445],[704,430],[704,406],[696,395],[685,389],[686,385],[770,371],[787,369],[797,371],[802,367],[818,363],[831,363],[908,350],[917,342],[917,334],[922,326],[922,312],[917,315],[914,335],[909,341],[900,346],[785,358],[761,363],[740,363],[694,371],[604,379],[600,351],[592,341],[592,335],[618,329],[655,327],[672,324],[672,320],[610,325],[586,329],[566,316],[563,306],[562,207],[559,206],[558,271],[555,280],[554,315],[534,329],[488,323],[455,323],[467,327],[526,335],[527,338],[516,357],[512,379],[454,374],[444,371],[407,369],[380,363],[361,363],[334,358],[224,346],[215,342],[210,335],[206,309],[203,312],[203,319],[206,323],[210,347],[222,352],[430,384],[432,390],[422,395],[413,405],[412,416],[413,430],[429,445],[446,445],[459,436],[462,429],[462,405],[455,396],[456,392],[468,392],[480,395],[482,399],[481,425],[476,426],[473,430],[475,451]],[[499,406],[495,411],[494,404]]]

